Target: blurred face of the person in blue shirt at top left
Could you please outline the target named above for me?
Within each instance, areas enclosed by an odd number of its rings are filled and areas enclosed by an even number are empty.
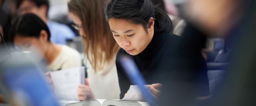
[[[20,15],[25,13],[34,13],[38,15],[38,17],[43,18],[46,17],[46,8],[44,6],[38,8],[34,2],[24,0],[18,7],[18,13]]]

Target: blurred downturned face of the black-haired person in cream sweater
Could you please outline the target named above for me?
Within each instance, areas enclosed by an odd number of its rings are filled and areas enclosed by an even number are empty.
[[[41,31],[42,32],[42,31]],[[44,36],[44,35],[43,35]],[[47,50],[47,37],[40,36],[36,37],[22,37],[20,35],[16,35],[14,37],[14,44],[18,46],[22,51],[32,51],[39,56],[43,56]]]

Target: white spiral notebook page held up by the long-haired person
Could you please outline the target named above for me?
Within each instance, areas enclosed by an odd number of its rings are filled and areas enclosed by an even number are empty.
[[[78,100],[78,85],[84,80],[84,67],[50,72],[54,83],[54,92],[60,100]]]

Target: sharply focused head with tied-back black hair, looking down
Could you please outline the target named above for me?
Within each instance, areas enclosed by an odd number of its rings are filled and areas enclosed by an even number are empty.
[[[172,29],[168,15],[150,0],[111,0],[105,14],[114,39],[130,55],[142,52],[154,31],[169,33]]]

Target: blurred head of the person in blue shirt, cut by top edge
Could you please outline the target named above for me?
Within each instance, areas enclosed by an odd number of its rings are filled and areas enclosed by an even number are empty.
[[[34,13],[40,18],[47,18],[49,2],[48,0],[18,0],[18,14]]]

